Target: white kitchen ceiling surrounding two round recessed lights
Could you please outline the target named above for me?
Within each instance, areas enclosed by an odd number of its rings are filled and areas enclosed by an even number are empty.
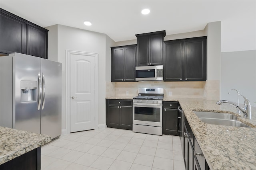
[[[198,31],[214,21],[222,23],[224,43],[230,37],[236,41],[236,36],[256,39],[255,0],[0,0],[0,8],[42,27],[67,25],[105,33],[116,42],[153,31]],[[149,15],[140,13],[144,8]],[[87,20],[91,26],[83,24]]]

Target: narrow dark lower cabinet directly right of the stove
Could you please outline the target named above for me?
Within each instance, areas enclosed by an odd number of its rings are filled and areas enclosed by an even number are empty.
[[[178,106],[178,102],[163,102],[163,134],[165,135],[180,135],[178,121],[181,117]]]

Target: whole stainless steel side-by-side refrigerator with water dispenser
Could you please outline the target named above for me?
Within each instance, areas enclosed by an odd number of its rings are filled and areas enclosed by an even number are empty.
[[[62,64],[20,53],[0,57],[0,126],[61,134]]]

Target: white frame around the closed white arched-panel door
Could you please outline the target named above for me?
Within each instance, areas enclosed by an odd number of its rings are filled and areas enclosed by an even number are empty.
[[[72,51],[72,50],[66,50],[66,133],[70,133],[70,58],[72,54],[76,55],[89,55],[94,57],[95,61],[95,102],[94,102],[94,110],[95,110],[95,126],[94,129],[98,129],[98,54],[97,53],[87,53],[82,51]]]

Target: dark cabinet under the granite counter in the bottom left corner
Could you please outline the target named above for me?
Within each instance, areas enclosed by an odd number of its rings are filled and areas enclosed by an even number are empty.
[[[31,150],[17,158],[0,165],[1,170],[40,170],[41,147]]]

